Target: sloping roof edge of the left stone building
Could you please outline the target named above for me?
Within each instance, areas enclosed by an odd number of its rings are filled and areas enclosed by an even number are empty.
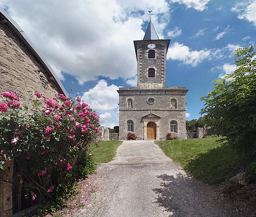
[[[43,65],[46,70],[46,73],[49,77],[54,78],[54,83],[64,95],[68,95],[67,91],[65,90],[64,86],[60,82],[59,78],[56,76],[55,72],[51,68],[50,64],[43,58],[42,54],[35,48],[34,44],[29,40],[28,36],[24,33],[21,27],[13,20],[13,18],[3,9],[0,7],[0,18],[1,15],[3,16],[0,20],[0,24],[7,23],[11,29],[18,35],[21,41],[29,48],[29,50],[35,55],[38,59],[39,63]],[[5,21],[4,21],[5,20]]]

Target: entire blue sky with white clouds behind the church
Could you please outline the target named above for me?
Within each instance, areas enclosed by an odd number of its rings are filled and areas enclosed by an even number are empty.
[[[119,86],[136,86],[134,40],[148,24],[171,39],[167,86],[185,86],[188,120],[200,96],[234,70],[234,52],[256,41],[256,0],[0,0],[63,82],[118,125]]]

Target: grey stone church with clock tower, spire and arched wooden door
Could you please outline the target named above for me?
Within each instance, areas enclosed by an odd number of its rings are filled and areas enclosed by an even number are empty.
[[[186,138],[185,87],[166,87],[169,39],[159,39],[149,21],[143,40],[134,41],[137,87],[119,88],[119,139],[134,132],[140,140],[165,139],[173,133]]]

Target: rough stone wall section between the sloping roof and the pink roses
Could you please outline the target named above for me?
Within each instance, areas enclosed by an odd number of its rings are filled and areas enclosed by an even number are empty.
[[[16,90],[21,103],[32,102],[35,90],[47,97],[58,94],[45,69],[7,25],[0,25],[0,91]]]

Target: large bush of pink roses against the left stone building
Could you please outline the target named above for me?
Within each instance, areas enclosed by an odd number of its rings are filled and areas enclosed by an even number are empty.
[[[35,92],[33,105],[21,105],[15,92],[1,93],[0,173],[11,158],[17,164],[17,184],[36,199],[51,197],[79,157],[89,157],[89,145],[100,132],[99,116],[81,98],[59,94],[48,98]],[[57,188],[57,189],[56,189]]]

